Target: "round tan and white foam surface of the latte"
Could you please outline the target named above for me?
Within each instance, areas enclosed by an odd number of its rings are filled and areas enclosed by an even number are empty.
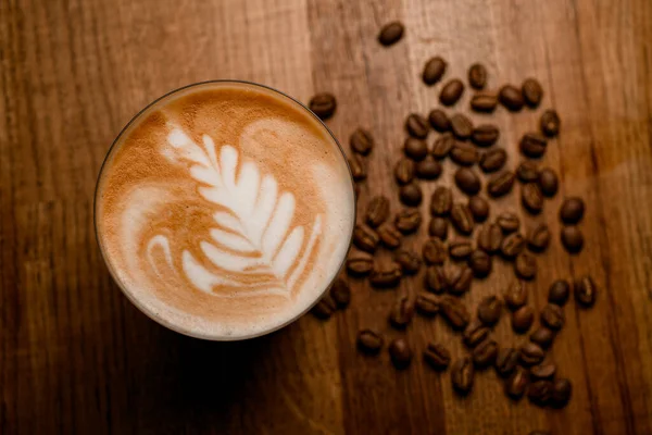
[[[333,281],[353,195],[341,150],[298,103],[211,83],[164,97],[122,133],[96,225],[139,308],[189,335],[241,338],[287,323]]]

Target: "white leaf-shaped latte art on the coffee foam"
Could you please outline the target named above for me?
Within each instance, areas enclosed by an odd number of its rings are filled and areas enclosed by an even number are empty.
[[[252,293],[289,296],[322,233],[322,216],[315,217],[309,233],[303,226],[291,227],[294,196],[280,191],[275,177],[261,174],[254,162],[240,161],[230,145],[217,149],[208,135],[199,145],[178,127],[173,127],[167,142],[171,149],[165,151],[166,157],[188,164],[201,197],[216,206],[215,226],[199,248],[214,266],[212,270],[225,273],[210,271],[190,251],[184,250],[183,272],[188,279],[211,294],[215,286],[227,286],[247,290],[231,291],[233,297]],[[165,260],[172,263],[165,236],[152,237],[149,246],[160,247]]]

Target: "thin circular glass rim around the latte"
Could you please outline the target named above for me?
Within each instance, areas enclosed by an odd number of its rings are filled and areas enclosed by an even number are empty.
[[[319,293],[318,297],[315,298],[314,301],[312,301],[311,303],[308,304],[308,307],[302,310],[301,312],[299,312],[298,314],[289,318],[288,320],[286,320],[285,322],[264,330],[264,331],[260,331],[260,332],[255,332],[255,333],[251,333],[251,334],[247,334],[247,335],[242,335],[242,336],[238,336],[238,337],[230,337],[230,336],[211,336],[208,334],[201,334],[198,333],[196,331],[192,331],[191,328],[187,328],[184,326],[180,326],[178,324],[175,324],[171,321],[168,321],[167,319],[164,319],[163,316],[158,316],[154,315],[154,313],[151,312],[151,310],[147,309],[145,307],[143,303],[140,302],[140,300],[135,297],[134,295],[130,294],[130,291],[128,291],[126,289],[126,285],[124,283],[121,282],[121,279],[118,279],[118,277],[116,276],[116,273],[113,269],[113,265],[110,263],[109,261],[109,256],[106,254],[105,250],[104,250],[104,246],[102,244],[99,231],[98,231],[98,194],[100,190],[100,183],[102,181],[102,174],[105,170],[106,163],[109,161],[109,158],[111,157],[111,154],[113,153],[113,151],[116,148],[117,144],[120,142],[121,138],[123,137],[123,135],[129,129],[129,127],[131,127],[134,125],[134,123],[140,119],[140,116],[146,113],[148,110],[150,110],[151,108],[153,108],[154,105],[156,105],[159,102],[161,102],[162,100],[164,100],[167,97],[171,97],[177,92],[180,92],[183,90],[189,89],[189,88],[193,88],[193,87],[201,87],[201,86],[205,86],[205,85],[211,85],[211,84],[239,84],[239,85],[247,85],[247,86],[251,86],[253,88],[262,88],[262,89],[266,89],[268,91],[272,91],[273,94],[277,94],[288,100],[290,100],[291,102],[293,102],[294,104],[298,104],[301,109],[303,109],[309,115],[311,115],[314,120],[317,121],[318,125],[321,125],[322,127],[324,127],[324,129],[328,133],[328,135],[330,136],[330,138],[333,139],[333,141],[335,142],[335,145],[337,146],[337,149],[339,150],[339,152],[341,153],[343,163],[347,167],[347,172],[349,174],[349,184],[351,187],[351,192],[352,192],[352,197],[353,197],[353,204],[352,204],[352,209],[353,209],[353,213],[351,214],[352,216],[352,222],[351,222],[351,232],[348,236],[349,243],[347,246],[347,250],[344,256],[342,257],[342,259],[340,260],[339,263],[339,268],[337,269],[336,273],[333,276],[333,279],[330,279],[328,282],[328,284],[324,287],[324,289]],[[106,150],[106,154],[104,156],[104,159],[102,160],[102,164],[100,165],[100,171],[98,172],[98,177],[96,181],[96,187],[95,187],[95,192],[93,192],[93,201],[92,201],[92,223],[93,223],[93,229],[95,229],[95,234],[96,234],[96,241],[98,244],[98,247],[100,248],[100,254],[102,256],[102,260],[104,262],[104,264],[106,265],[106,269],[109,270],[109,274],[111,275],[113,282],[120,287],[121,291],[123,295],[125,295],[127,297],[127,299],[140,311],[142,312],[145,315],[147,315],[149,319],[153,320],[154,322],[159,323],[160,325],[174,331],[176,333],[189,336],[189,337],[193,337],[193,338],[199,338],[199,339],[204,339],[204,340],[210,340],[210,341],[240,341],[240,340],[247,340],[247,339],[251,339],[251,338],[256,338],[256,337],[262,337],[264,335],[268,335],[272,334],[278,330],[284,328],[285,326],[289,325],[290,323],[293,323],[294,321],[299,320],[300,318],[302,318],[305,313],[308,313],[315,304],[317,304],[322,298],[324,297],[324,295],[330,289],[330,287],[333,287],[333,284],[335,283],[336,279],[338,279],[339,274],[341,273],[344,263],[347,261],[347,257],[349,256],[349,252],[351,250],[351,246],[353,243],[353,229],[355,227],[355,222],[358,221],[358,207],[356,207],[356,195],[355,195],[355,182],[353,179],[353,175],[351,173],[351,166],[349,164],[349,159],[347,158],[347,153],[344,152],[344,149],[342,148],[342,146],[340,145],[339,140],[337,140],[337,138],[335,137],[335,135],[333,134],[333,132],[330,130],[330,128],[328,128],[328,126],[324,123],[324,121],[322,121],[322,119],[319,119],[319,116],[317,116],[312,110],[310,110],[310,108],[308,108],[308,105],[303,104],[301,101],[297,100],[296,98],[287,95],[286,92],[283,92],[278,89],[275,89],[271,86],[267,85],[262,85],[255,82],[249,82],[249,80],[241,80],[241,79],[229,79],[229,78],[223,78],[223,79],[212,79],[212,80],[204,80],[204,82],[196,82],[196,83],[191,83],[189,85],[185,85],[178,88],[175,88],[173,90],[170,90],[167,92],[165,92],[164,95],[162,95],[161,97],[158,97],[156,99],[152,100],[149,104],[147,104],[145,108],[142,108],[141,110],[139,110],[134,116],[131,116],[129,119],[129,121],[125,124],[125,126],[120,130],[120,133],[117,134],[117,136],[115,137],[115,139],[113,140],[113,142],[111,144],[111,147],[109,147],[109,149]],[[189,314],[192,315],[192,314]]]

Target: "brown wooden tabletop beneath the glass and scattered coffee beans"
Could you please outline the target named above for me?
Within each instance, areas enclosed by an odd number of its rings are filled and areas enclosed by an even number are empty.
[[[406,34],[387,49],[376,35],[391,20]],[[113,138],[152,99],[225,77],[303,101],[330,91],[339,107],[328,125],[347,152],[358,126],[377,141],[361,210],[380,192],[398,210],[389,174],[405,115],[437,105],[441,85],[419,79],[435,54],[449,62],[448,78],[465,78],[475,61],[492,88],[538,77],[541,109],[561,113],[563,133],[543,160],[563,182],[546,203],[554,239],[538,259],[530,301],[541,308],[557,277],[590,273],[600,288],[594,309],[566,306],[550,355],[575,387],[567,408],[514,403],[491,370],[461,399],[448,373],[421,358],[397,371],[386,351],[356,352],[358,330],[376,327],[405,334],[417,353],[438,340],[463,355],[441,320],[417,318],[405,333],[387,325],[397,293],[413,295],[421,278],[385,293],[351,282],[351,307],[330,321],[308,315],[231,344],[166,331],[113,284],[93,234],[96,176]],[[652,433],[651,78],[645,0],[2,0],[0,433]],[[456,110],[466,111],[469,95]],[[539,113],[491,117],[511,166]],[[447,164],[438,183],[451,174]],[[559,206],[570,195],[588,203],[577,257],[557,236]],[[526,219],[516,192],[492,213],[503,209]],[[494,269],[466,296],[471,307],[513,279],[509,265]],[[525,339],[506,318],[494,335],[503,346]]]

